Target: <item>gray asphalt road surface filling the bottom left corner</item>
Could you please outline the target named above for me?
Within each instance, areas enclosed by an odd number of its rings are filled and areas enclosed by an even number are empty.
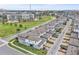
[[[24,55],[24,53],[21,53],[19,51],[12,49],[7,45],[4,45],[0,47],[0,55]]]

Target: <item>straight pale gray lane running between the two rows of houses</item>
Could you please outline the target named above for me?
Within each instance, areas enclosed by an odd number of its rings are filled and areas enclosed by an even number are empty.
[[[68,27],[71,24],[71,20],[67,22],[67,25],[65,26],[65,28],[63,29],[63,31],[61,32],[61,34],[59,35],[59,37],[56,39],[55,44],[50,48],[50,50],[48,51],[48,55],[55,55],[61,45],[61,42],[63,40],[64,35],[66,34]]]

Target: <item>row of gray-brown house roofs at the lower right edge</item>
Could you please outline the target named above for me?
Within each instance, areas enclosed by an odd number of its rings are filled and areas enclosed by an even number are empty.
[[[78,47],[79,47],[78,33],[72,32],[66,54],[67,55],[77,55],[78,51],[79,51]]]

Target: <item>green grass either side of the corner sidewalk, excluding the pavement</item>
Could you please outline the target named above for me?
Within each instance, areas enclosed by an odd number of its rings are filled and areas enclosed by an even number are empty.
[[[12,41],[13,41],[13,40],[11,40],[10,42],[12,42]],[[17,42],[16,40],[13,42],[13,44],[15,44],[16,46],[22,47],[22,48],[24,48],[24,49],[26,49],[26,50],[28,50],[28,51],[31,51],[32,53],[35,53],[35,54],[37,54],[37,55],[45,55],[45,54],[47,53],[47,51],[45,51],[45,50],[42,50],[42,49],[35,49],[35,48],[33,48],[33,47],[26,46],[26,45],[24,45],[24,44],[21,44],[21,43]],[[13,48],[15,48],[15,49],[18,49],[18,50],[21,51],[21,52],[27,53],[26,51],[23,51],[23,50],[19,49],[18,47],[15,47],[15,46],[11,45],[11,43],[9,43],[9,46],[11,46],[11,47],[13,47]]]

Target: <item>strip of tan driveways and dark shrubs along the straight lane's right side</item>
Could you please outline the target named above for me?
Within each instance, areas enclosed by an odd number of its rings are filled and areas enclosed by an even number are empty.
[[[71,26],[68,28],[67,33],[64,36],[64,40],[62,41],[62,44],[60,45],[60,48],[58,50],[58,55],[65,55],[67,52],[67,48],[69,45],[69,41],[70,41],[70,36],[71,36]]]

